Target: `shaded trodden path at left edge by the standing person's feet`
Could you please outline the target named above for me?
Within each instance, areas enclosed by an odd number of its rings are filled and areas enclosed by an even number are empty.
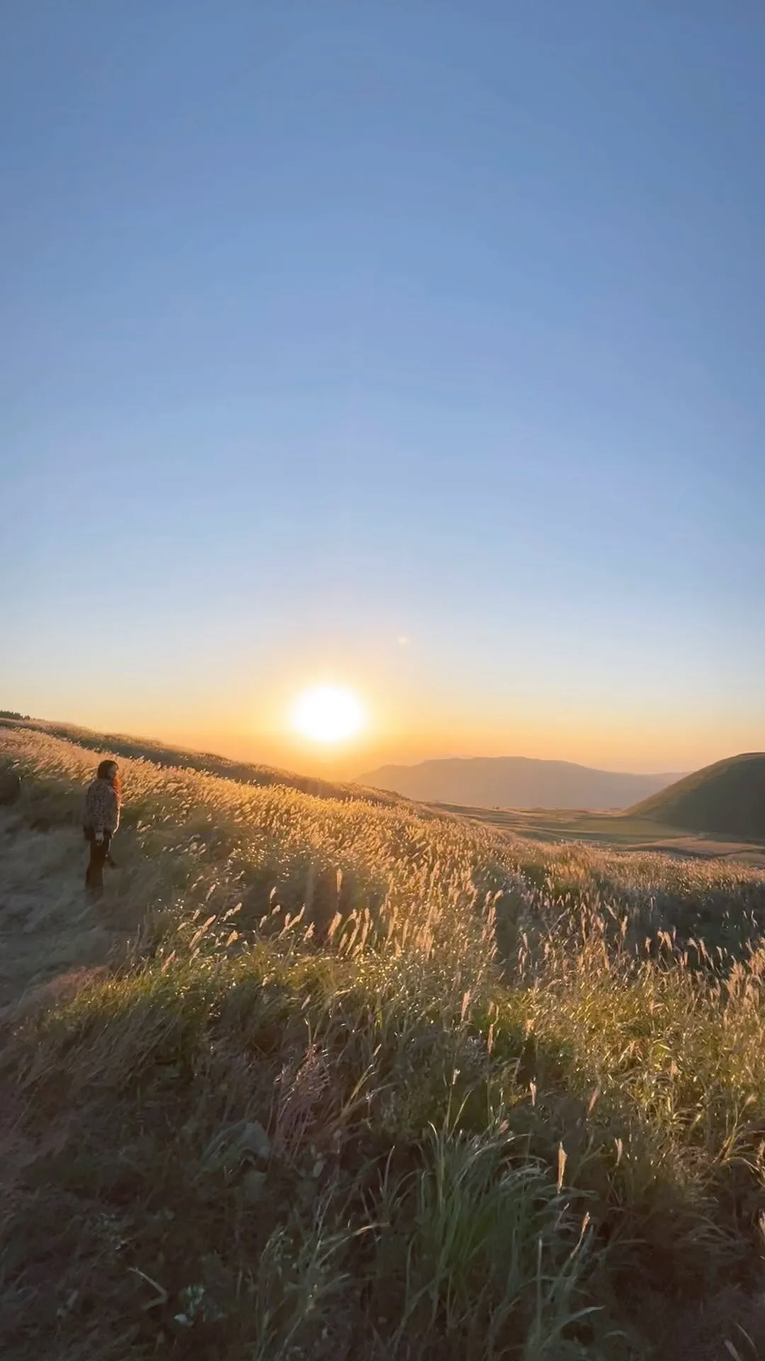
[[[0,808],[0,1014],[82,983],[127,938],[114,871],[103,897],[84,893],[87,847],[78,827],[34,830]]]

